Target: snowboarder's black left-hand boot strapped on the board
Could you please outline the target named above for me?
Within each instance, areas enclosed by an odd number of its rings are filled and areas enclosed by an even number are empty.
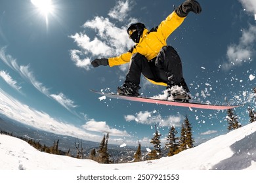
[[[123,86],[117,88],[117,93],[119,95],[127,95],[131,97],[138,97],[140,86],[133,82],[125,82]]]

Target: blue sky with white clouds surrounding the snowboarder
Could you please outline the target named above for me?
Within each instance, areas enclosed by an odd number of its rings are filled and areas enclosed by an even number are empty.
[[[127,52],[133,45],[127,25],[143,22],[150,29],[183,1],[48,2],[43,8],[35,0],[1,1],[1,114],[96,142],[110,133],[116,144],[149,144],[155,124],[164,141],[169,127],[179,131],[186,115],[196,142],[227,132],[226,111],[100,100],[89,92],[115,92],[123,84],[128,65],[93,68],[90,62]],[[193,100],[255,106],[255,1],[199,2],[202,13],[190,13],[167,41],[181,56]],[[148,97],[165,90],[144,78],[141,87]],[[249,122],[246,108],[236,109],[242,125]]]

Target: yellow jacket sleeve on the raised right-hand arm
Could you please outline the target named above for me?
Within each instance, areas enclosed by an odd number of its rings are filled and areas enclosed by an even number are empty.
[[[158,32],[161,32],[163,39],[167,39],[179,25],[182,24],[186,17],[179,17],[176,12],[172,12],[165,20],[158,26]]]

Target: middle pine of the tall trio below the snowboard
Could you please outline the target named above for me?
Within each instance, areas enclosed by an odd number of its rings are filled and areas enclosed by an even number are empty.
[[[177,141],[177,135],[178,131],[175,129],[174,126],[171,127],[169,130],[169,134],[167,135],[167,142],[165,143],[165,149],[168,149],[169,152],[167,156],[173,156],[177,153],[178,149],[178,143]]]

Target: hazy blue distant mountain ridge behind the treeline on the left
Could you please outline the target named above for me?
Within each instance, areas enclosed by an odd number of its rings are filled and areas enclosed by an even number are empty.
[[[77,142],[77,138],[75,137],[56,135],[47,131],[41,131],[29,125],[24,125],[20,122],[5,118],[5,116],[0,116],[0,130],[12,133],[17,137],[26,137],[28,139],[40,141],[41,144],[45,144],[46,146],[53,146],[53,142],[59,139],[60,150],[67,152],[70,149],[72,156],[76,155],[75,142]],[[91,150],[93,148],[97,149],[100,144],[100,142],[85,141],[81,139],[79,139],[79,141],[82,141],[85,156],[89,156]],[[137,147],[135,146],[119,147],[118,145],[108,144],[108,152],[116,162],[118,159],[131,161],[136,150]]]

